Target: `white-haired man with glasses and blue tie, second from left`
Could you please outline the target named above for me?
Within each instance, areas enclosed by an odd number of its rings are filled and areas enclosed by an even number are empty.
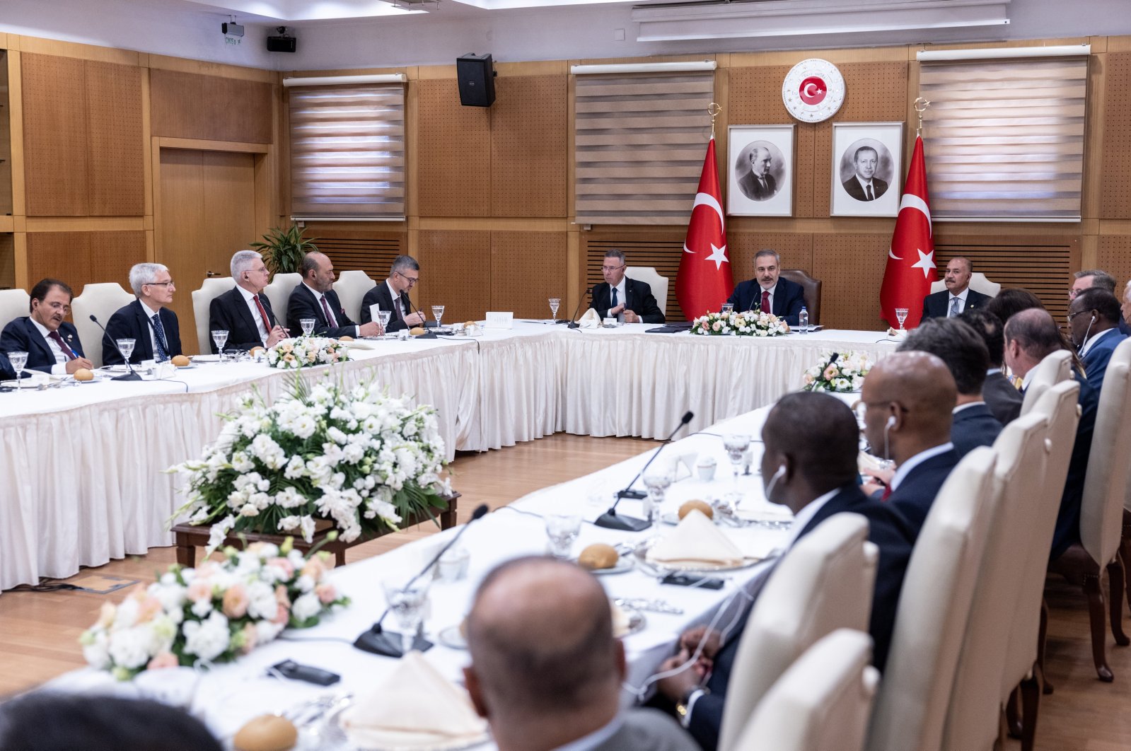
[[[118,351],[119,339],[133,339],[131,363],[164,362],[181,354],[176,313],[166,308],[176,292],[169,269],[163,264],[135,264],[130,269],[130,287],[137,300],[119,308],[106,321],[106,336],[102,339],[103,364],[126,362]]]

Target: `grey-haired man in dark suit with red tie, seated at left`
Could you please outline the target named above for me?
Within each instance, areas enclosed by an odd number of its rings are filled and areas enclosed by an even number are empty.
[[[227,331],[225,349],[274,347],[287,336],[279,326],[271,301],[264,294],[270,271],[264,258],[254,250],[240,250],[232,256],[232,278],[235,286],[208,305],[208,330]],[[211,342],[215,354],[219,349]]]

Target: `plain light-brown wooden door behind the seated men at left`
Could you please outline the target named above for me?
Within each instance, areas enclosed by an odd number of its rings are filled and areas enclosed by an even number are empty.
[[[198,349],[192,291],[209,276],[230,276],[232,253],[256,238],[254,154],[162,149],[161,243],[157,262],[176,283],[171,308],[181,346]]]

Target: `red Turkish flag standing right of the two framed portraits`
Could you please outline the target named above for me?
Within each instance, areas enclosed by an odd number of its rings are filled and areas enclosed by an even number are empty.
[[[896,231],[888,249],[888,266],[883,269],[880,287],[880,318],[888,326],[899,328],[897,308],[907,309],[904,328],[915,328],[923,314],[923,297],[931,292],[936,277],[934,240],[931,235],[931,202],[926,195],[926,164],[923,158],[923,138],[915,138],[912,166],[904,183],[899,201]]]

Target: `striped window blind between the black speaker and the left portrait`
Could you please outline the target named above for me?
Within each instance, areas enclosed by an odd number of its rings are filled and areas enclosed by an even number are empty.
[[[714,71],[578,76],[577,221],[687,224],[714,92]]]

